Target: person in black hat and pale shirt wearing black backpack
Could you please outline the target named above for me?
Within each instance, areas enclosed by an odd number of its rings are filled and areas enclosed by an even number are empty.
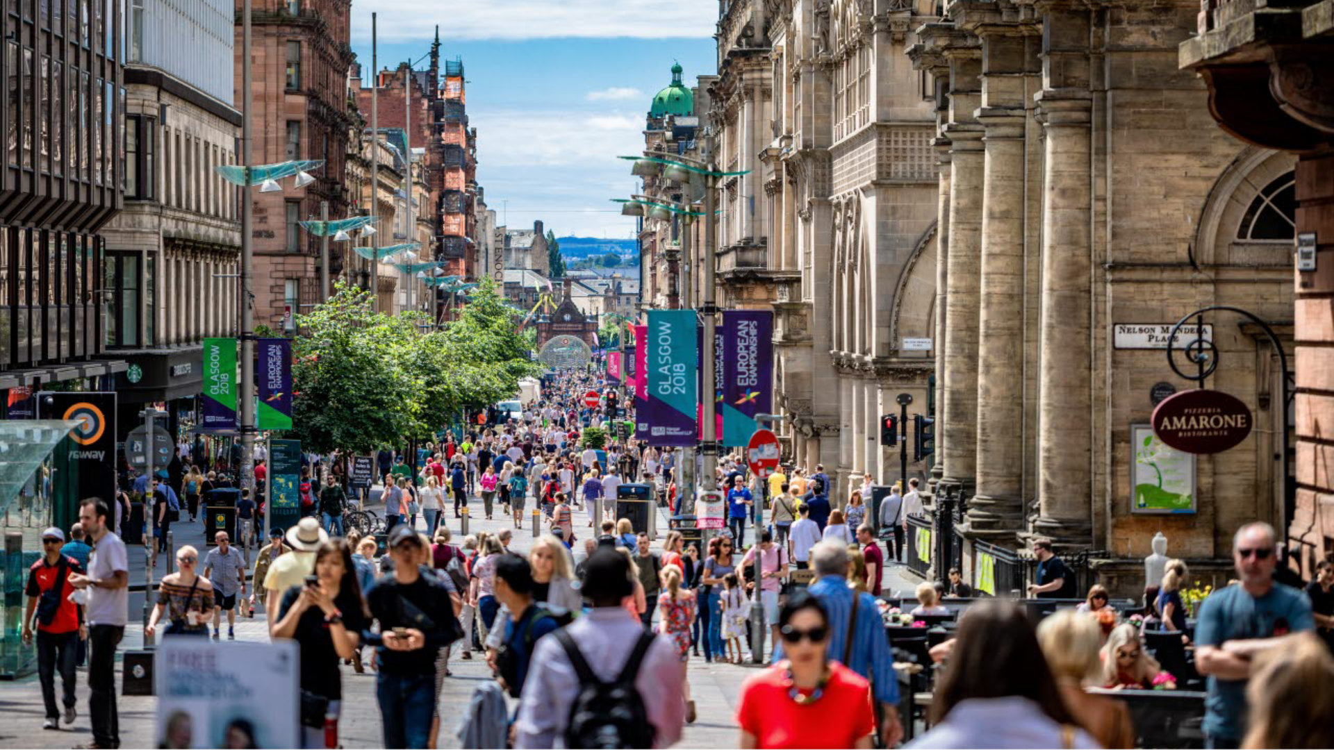
[[[667,747],[686,719],[684,670],[667,635],[626,615],[630,560],[598,547],[584,569],[592,610],[538,641],[515,747]]]

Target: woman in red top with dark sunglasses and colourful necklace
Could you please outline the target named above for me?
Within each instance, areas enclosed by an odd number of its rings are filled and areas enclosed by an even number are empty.
[[[779,611],[783,661],[742,685],[740,747],[870,747],[870,683],[827,654],[828,618],[800,591]]]

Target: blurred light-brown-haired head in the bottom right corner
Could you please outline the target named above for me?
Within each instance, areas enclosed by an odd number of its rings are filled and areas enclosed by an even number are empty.
[[[1334,738],[1334,658],[1303,633],[1261,651],[1246,686],[1250,729],[1242,747],[1329,747]]]

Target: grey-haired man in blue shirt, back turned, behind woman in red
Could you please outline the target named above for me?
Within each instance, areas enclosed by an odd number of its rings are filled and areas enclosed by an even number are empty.
[[[806,510],[806,508],[802,508]],[[890,637],[884,634],[884,622],[875,597],[855,593],[847,585],[847,544],[835,540],[820,542],[811,548],[811,566],[816,581],[807,589],[824,606],[828,621],[826,643],[831,659],[871,682],[871,695],[875,698],[876,723],[884,747],[894,747],[903,737],[899,723],[899,677],[894,673],[894,657],[890,653]],[[854,598],[855,597],[855,598]],[[856,605],[856,622],[852,622],[852,606]],[[848,637],[852,643],[848,646]],[[774,662],[783,658],[783,642],[774,649]]]

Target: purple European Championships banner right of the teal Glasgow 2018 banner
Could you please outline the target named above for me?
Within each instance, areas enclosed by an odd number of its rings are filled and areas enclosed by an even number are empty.
[[[759,430],[756,414],[774,406],[774,314],[767,310],[723,311],[724,446],[744,446]]]

